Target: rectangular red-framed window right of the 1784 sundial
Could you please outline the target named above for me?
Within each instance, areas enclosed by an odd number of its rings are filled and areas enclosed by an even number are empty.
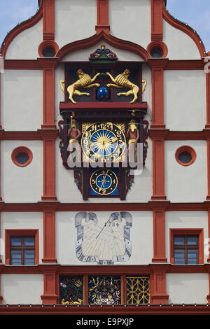
[[[171,229],[171,262],[175,265],[204,263],[202,229]]]

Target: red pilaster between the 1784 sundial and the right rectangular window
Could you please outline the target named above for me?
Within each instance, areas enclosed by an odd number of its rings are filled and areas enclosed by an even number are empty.
[[[153,210],[153,262],[167,262],[165,257],[165,210],[169,202],[149,202]]]

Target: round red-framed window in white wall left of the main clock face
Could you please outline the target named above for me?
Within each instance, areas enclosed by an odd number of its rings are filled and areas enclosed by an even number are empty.
[[[33,154],[26,146],[18,146],[11,155],[13,163],[18,167],[26,167],[31,163]]]

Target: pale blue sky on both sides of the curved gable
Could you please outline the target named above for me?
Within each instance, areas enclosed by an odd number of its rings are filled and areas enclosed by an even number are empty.
[[[10,29],[36,13],[38,0],[0,0],[0,3],[1,45]],[[206,50],[210,51],[209,0],[167,0],[167,9],[174,17],[193,27],[202,38]]]

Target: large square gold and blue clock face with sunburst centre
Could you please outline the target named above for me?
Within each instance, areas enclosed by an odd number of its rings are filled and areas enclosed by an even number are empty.
[[[125,151],[125,125],[111,122],[83,124],[81,145],[85,160],[116,162]]]

